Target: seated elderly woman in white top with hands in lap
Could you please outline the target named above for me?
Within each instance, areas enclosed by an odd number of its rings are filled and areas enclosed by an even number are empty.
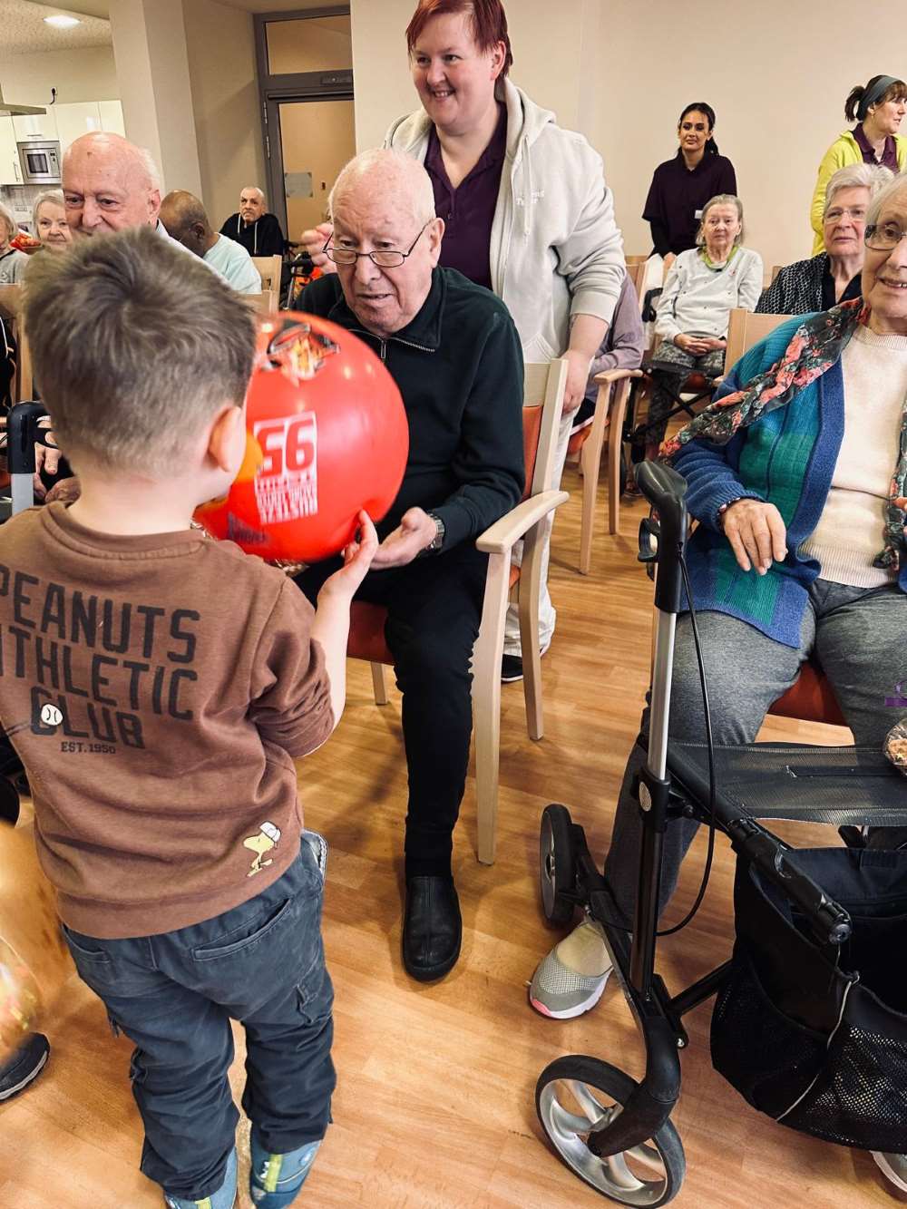
[[[752,311],[762,291],[762,258],[743,247],[744,208],[733,193],[703,207],[697,248],[671,265],[655,316],[660,343],[652,357],[654,387],[646,424],[646,456],[664,440],[668,416],[694,371],[712,381],[724,370],[728,318]]]

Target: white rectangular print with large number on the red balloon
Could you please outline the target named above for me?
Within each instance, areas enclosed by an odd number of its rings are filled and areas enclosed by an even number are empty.
[[[262,525],[295,521],[318,511],[318,426],[313,411],[259,420],[253,436],[265,461],[255,475]]]

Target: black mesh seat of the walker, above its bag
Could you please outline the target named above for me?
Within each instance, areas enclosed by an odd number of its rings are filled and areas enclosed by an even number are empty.
[[[874,748],[749,744],[714,750],[720,826],[747,816],[907,826],[907,777]],[[709,802],[706,745],[671,742],[668,768],[701,817]]]

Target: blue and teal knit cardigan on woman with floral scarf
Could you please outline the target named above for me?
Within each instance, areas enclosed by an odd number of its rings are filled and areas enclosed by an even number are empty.
[[[724,378],[716,398],[739,391],[773,365],[804,318],[781,324],[753,345]],[[825,508],[843,436],[844,380],[837,361],[786,407],[741,429],[727,445],[699,439],[683,446],[674,465],[687,480],[691,516],[700,522],[688,551],[697,609],[729,613],[776,642],[799,646],[809,586],[821,577],[821,567],[815,559],[802,559],[797,550]],[[740,498],[769,501],[787,526],[787,556],[764,575],[740,569],[718,527],[718,509]],[[883,544],[879,517],[879,550]],[[907,591],[907,559],[897,583]]]

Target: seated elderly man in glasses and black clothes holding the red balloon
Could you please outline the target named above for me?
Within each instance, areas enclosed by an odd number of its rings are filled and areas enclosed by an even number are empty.
[[[403,692],[403,960],[424,982],[460,955],[452,833],[469,759],[469,661],[486,569],[474,542],[522,494],[522,354],[504,303],[438,267],[444,222],[422,164],[394,151],[363,152],[337,178],[330,208],[325,253],[337,272],[307,285],[299,308],[348,329],[381,357],[410,428],[403,484],[357,598],[388,611]],[[335,567],[318,563],[296,582],[314,600]]]

